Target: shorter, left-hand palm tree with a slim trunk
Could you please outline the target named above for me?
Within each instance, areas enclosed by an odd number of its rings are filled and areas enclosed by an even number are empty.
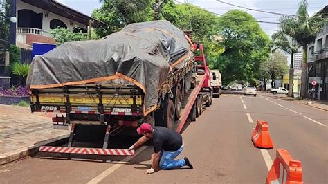
[[[284,25],[282,25],[284,26]],[[286,30],[285,30],[286,31]],[[294,54],[298,52],[300,45],[295,42],[295,39],[289,36],[292,30],[287,30],[284,33],[282,30],[273,33],[271,36],[273,39],[273,51],[279,49],[285,53],[291,55],[291,66],[289,68],[289,92],[288,96],[293,97],[293,79],[294,79]]]

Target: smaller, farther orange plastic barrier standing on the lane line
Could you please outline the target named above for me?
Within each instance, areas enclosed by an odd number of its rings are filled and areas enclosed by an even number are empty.
[[[255,147],[272,149],[273,142],[268,133],[268,122],[264,120],[257,120],[256,128],[252,134],[252,141]]]

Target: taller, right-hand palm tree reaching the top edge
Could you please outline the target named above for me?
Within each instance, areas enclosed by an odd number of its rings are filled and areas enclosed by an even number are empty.
[[[322,30],[325,19],[321,15],[310,17],[307,13],[307,1],[302,0],[298,6],[298,12],[295,17],[283,16],[280,19],[280,29],[286,35],[289,35],[295,42],[302,46],[302,81],[301,97],[307,96],[307,46],[314,42],[317,33]]]

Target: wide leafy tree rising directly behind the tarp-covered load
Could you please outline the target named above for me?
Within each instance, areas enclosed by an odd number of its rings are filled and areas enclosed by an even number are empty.
[[[102,7],[93,11],[93,17],[108,25],[96,29],[99,37],[117,32],[127,24],[166,19],[181,30],[193,30],[193,41],[203,44],[210,66],[214,66],[212,61],[215,61],[217,56],[222,53],[222,47],[215,40],[219,17],[212,12],[188,3],[176,5],[173,0],[122,2],[125,1],[104,0]],[[140,6],[140,3],[143,6]],[[129,12],[123,11],[130,6],[137,9]]]

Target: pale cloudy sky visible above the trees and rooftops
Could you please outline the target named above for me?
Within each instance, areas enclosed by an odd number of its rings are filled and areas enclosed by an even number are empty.
[[[101,4],[99,0],[57,0],[66,6],[69,6],[75,10],[78,10],[86,15],[91,15],[95,8],[100,8]],[[181,3],[185,0],[176,0]],[[265,10],[269,12],[279,12],[283,14],[295,15],[298,10],[298,1],[300,0],[221,0],[227,3],[232,3],[238,6],[244,6],[256,10]],[[308,12],[309,15],[313,15],[328,4],[328,0],[308,0],[309,3]],[[188,0],[188,3],[205,8],[210,12],[224,14],[228,10],[241,9],[234,6],[229,6],[224,3],[217,2],[216,0]],[[246,10],[248,13],[253,15],[258,21],[270,21],[277,22],[279,15],[268,14],[264,12],[255,12]],[[272,35],[278,30],[278,24],[265,24],[259,23],[262,29],[268,34]]]

